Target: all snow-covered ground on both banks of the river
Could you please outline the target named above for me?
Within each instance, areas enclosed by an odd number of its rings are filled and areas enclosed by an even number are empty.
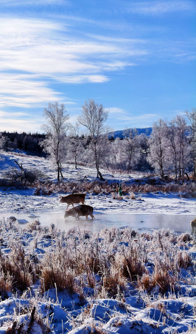
[[[0,162],[2,175],[11,166],[16,167],[14,162],[16,160],[19,164],[22,163],[23,168],[39,169],[50,180],[56,181],[55,167],[50,161],[11,154],[1,154],[1,156],[5,158],[4,161]],[[101,170],[101,172],[108,181],[132,183],[135,179],[142,178],[142,175],[111,175],[104,170]],[[96,170],[82,166],[75,169],[73,165],[65,164],[63,174],[65,180],[80,180],[85,176],[88,180],[93,180],[96,177]],[[1,188],[0,216],[17,216],[20,213],[22,218],[26,218],[28,215],[33,216],[37,213],[64,213],[65,204],[59,203],[58,193],[54,192],[50,196],[36,196],[34,191],[35,189],[32,188]],[[181,198],[178,197],[177,193],[140,194],[139,196],[136,195],[136,199],[123,196],[120,201],[113,199],[111,194],[87,193],[86,204],[92,205],[96,214],[164,213],[196,215],[196,198]],[[43,227],[42,232],[30,230],[28,227],[26,228],[26,224],[23,226],[18,226],[17,222],[11,223],[8,221],[6,223],[4,220],[0,221],[0,261],[10,256],[11,253],[14,257],[13,249],[14,247],[20,248],[20,245],[24,249],[24,254],[26,256],[30,255],[35,266],[36,263],[42,263],[45,257],[48,257],[49,260],[52,259],[52,255],[58,248],[78,248],[80,253],[80,247],[83,243],[87,249],[91,249],[95,244],[100,244],[102,247],[100,257],[106,257],[108,255],[107,249],[110,249],[111,255],[117,259],[122,254],[130,252],[133,243],[135,247],[138,244],[138,249],[143,247],[143,244],[139,241],[140,236],[137,235],[131,239],[130,229],[119,230],[114,227],[110,230],[94,232],[91,235],[90,232],[85,232],[85,237],[83,237],[81,229],[76,232],[71,229],[66,235],[64,232],[54,231],[52,226],[51,228]],[[126,232],[123,232],[125,230]],[[127,235],[128,240],[123,237],[123,233]],[[155,235],[156,233],[158,232],[154,231]],[[26,293],[21,293],[18,290],[17,294],[7,292],[7,295],[5,295],[3,293],[4,278],[0,275],[0,281],[3,282],[0,285],[2,295],[2,301],[0,302],[0,334],[49,333],[47,328],[50,328],[53,334],[68,332],[70,334],[177,334],[185,332],[192,334],[196,328],[196,245],[194,240],[173,242],[173,239],[177,236],[172,236],[172,233],[166,233],[168,234],[169,248],[167,249],[167,246],[163,245],[164,250],[162,249],[159,252],[160,260],[164,262],[165,254],[168,252],[167,256],[169,257],[170,253],[175,257],[176,252],[180,251],[182,252],[181,256],[185,259],[191,257],[191,263],[186,268],[179,267],[177,276],[174,277],[177,279],[175,281],[177,283],[174,283],[175,291],[172,290],[173,287],[171,286],[165,295],[161,296],[157,284],[148,294],[146,289],[138,289],[135,284],[132,285],[128,280],[123,298],[118,293],[113,297],[108,296],[104,289],[101,292],[99,291],[99,295],[96,295],[95,289],[87,282],[87,275],[84,272],[81,281],[84,298],[81,297],[80,293],[69,294],[65,289],[60,291],[54,287],[43,293],[40,279],[32,284]],[[105,242],[106,235],[110,240],[109,246]],[[115,235],[113,239],[112,235]],[[156,249],[158,239],[155,237],[155,241],[153,241],[148,239],[147,236],[142,242],[146,247],[146,253],[144,252],[146,254],[145,274],[153,275],[158,258]],[[122,261],[120,263],[122,264]],[[172,260],[170,263],[172,263]],[[174,274],[176,275],[169,269],[168,274],[171,277]],[[101,275],[96,274],[95,279],[99,286]],[[76,280],[80,282],[81,277],[76,278]]]

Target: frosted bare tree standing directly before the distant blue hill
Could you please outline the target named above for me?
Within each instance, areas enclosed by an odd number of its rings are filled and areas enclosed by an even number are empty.
[[[135,128],[125,128],[123,135],[123,150],[127,160],[127,172],[129,173],[129,170],[133,169],[133,161],[139,148],[138,131]]]

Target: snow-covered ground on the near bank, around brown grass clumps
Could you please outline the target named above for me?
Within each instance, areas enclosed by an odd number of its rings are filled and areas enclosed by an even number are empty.
[[[9,224],[11,228],[8,227]],[[161,245],[162,237],[164,245]],[[180,236],[176,237],[172,232],[164,231],[154,232],[151,240],[148,236],[141,239],[139,235],[131,238],[131,229],[125,229],[123,235],[122,230],[116,228],[94,234],[83,230],[70,230],[67,234],[61,234],[54,228],[43,228],[41,232],[28,230],[28,228],[21,230],[17,223],[8,222],[6,225],[1,221],[1,262],[6,256],[10,256],[10,261],[13,261],[14,243],[17,248],[24,249],[24,254],[27,258],[30,256],[35,265],[43,263],[46,266],[44,259],[53,261],[54,254],[62,252],[64,247],[66,251],[68,248],[73,251],[76,249],[74,251],[76,256],[77,252],[82,255],[84,247],[87,250],[89,247],[92,249],[97,247],[100,257],[106,259],[109,254],[113,254],[118,261],[118,257],[122,254],[126,256],[132,252],[132,248],[137,247],[138,242],[146,252],[144,276],[148,273],[150,277],[153,276],[158,257],[164,265],[170,252],[171,264],[177,252],[181,254],[182,259],[186,259],[187,254],[192,260],[186,268],[182,265],[181,268],[176,267],[176,270],[179,270],[177,276],[175,271],[175,276],[172,272],[168,272],[173,285],[168,287],[162,295],[158,283],[150,289],[148,294],[147,288],[137,287],[136,280],[129,282],[125,279],[124,297],[120,292],[116,296],[109,297],[104,288],[100,290],[103,273],[95,275],[94,287],[92,287],[88,279],[88,275],[92,274],[86,275],[85,272],[81,277],[76,277],[76,283],[81,285],[80,293],[68,293],[66,289],[53,287],[45,293],[41,292],[43,279],[31,285],[26,293],[21,294],[18,290],[17,295],[7,292],[5,296],[1,287],[0,334],[50,333],[47,328],[51,329],[52,334],[68,332],[70,334],[193,333],[196,326],[196,245],[195,241],[188,241],[186,238],[186,236],[184,239]],[[142,243],[141,240],[143,240]],[[161,252],[159,242],[162,247]],[[108,266],[110,265],[108,263]],[[61,268],[63,264],[60,262],[59,266]]]

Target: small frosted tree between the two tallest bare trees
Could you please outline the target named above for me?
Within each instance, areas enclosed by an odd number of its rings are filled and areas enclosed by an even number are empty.
[[[84,153],[84,141],[85,138],[80,135],[79,124],[71,125],[68,137],[68,157],[74,159],[75,168],[77,168],[77,162]]]

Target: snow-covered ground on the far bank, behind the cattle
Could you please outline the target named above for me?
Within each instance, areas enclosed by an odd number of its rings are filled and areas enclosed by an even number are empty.
[[[39,169],[51,181],[57,181],[55,166],[48,160],[35,157],[20,157],[11,154],[1,154],[4,161],[0,161],[0,172],[3,175],[10,167],[17,167],[14,160],[22,164],[23,168]],[[109,174],[101,170],[108,182],[126,182],[131,184],[136,179],[142,179],[141,174]],[[80,180],[85,176],[87,180],[96,178],[96,169],[64,164],[63,174],[66,180]],[[122,189],[123,190],[123,189]],[[35,196],[35,189],[0,188],[0,212],[2,215],[14,213],[41,213],[65,211],[65,204],[59,203],[60,194],[53,193],[50,196]],[[62,194],[64,195],[64,194]],[[196,198],[182,198],[178,193],[147,193],[136,195],[136,199],[123,196],[121,201],[113,199],[112,195],[87,193],[86,204],[93,206],[96,213],[151,213],[151,214],[196,214]],[[141,198],[141,199],[140,199]]]

